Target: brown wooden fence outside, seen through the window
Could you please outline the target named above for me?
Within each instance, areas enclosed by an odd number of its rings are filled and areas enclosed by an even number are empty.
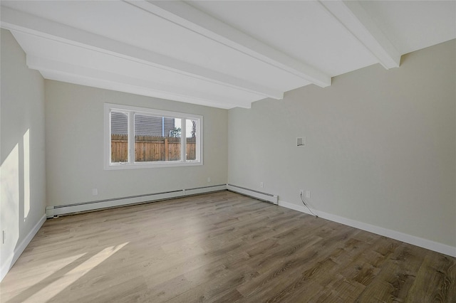
[[[196,138],[187,138],[187,160],[196,159]],[[135,161],[179,161],[180,138],[135,137]],[[125,134],[111,135],[111,162],[128,161],[128,137]]]

